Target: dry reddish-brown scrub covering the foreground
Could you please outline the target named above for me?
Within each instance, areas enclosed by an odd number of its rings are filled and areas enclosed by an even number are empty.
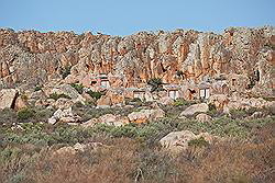
[[[2,147],[0,182],[28,183],[222,183],[274,182],[274,123],[248,140],[230,139],[172,157],[157,144],[95,137],[107,145],[76,155],[56,155],[59,145]]]

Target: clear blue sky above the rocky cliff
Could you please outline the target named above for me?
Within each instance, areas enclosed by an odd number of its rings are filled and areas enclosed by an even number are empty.
[[[275,25],[275,0],[0,0],[0,27],[130,35]]]

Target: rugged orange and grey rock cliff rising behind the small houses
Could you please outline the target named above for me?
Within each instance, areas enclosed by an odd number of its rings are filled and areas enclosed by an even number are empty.
[[[248,77],[252,92],[273,95],[274,65],[273,26],[230,27],[221,35],[176,30],[124,37],[0,30],[0,89],[34,88],[62,79],[69,68],[67,82],[108,73],[120,76],[120,87],[141,87],[151,78],[198,83],[238,73]]]

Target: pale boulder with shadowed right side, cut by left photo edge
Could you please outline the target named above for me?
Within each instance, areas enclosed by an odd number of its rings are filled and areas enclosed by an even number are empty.
[[[18,96],[15,89],[3,89],[0,91],[0,110],[11,108]]]

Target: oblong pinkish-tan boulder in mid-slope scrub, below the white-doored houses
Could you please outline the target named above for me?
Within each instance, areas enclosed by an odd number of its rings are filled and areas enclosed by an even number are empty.
[[[132,112],[128,115],[131,123],[146,123],[148,121],[164,117],[165,112],[162,108],[156,110],[141,110],[139,112]]]

